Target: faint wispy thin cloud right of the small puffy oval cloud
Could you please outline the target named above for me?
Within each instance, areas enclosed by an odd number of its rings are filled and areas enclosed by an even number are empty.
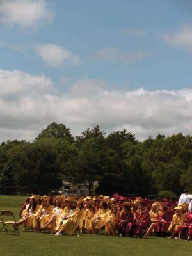
[[[108,47],[100,49],[96,52],[94,58],[96,60],[109,62],[109,63],[123,63],[125,65],[132,64],[136,61],[143,60],[150,56],[148,52],[144,51],[133,51],[133,52],[121,52],[119,49]]]

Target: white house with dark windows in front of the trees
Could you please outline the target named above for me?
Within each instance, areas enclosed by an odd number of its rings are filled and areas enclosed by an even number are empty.
[[[86,188],[84,183],[73,184],[71,182],[63,180],[62,184],[63,184],[63,186],[61,186],[61,190],[60,190],[61,195],[81,196],[81,195],[88,195],[89,194],[88,188]],[[94,186],[97,186],[97,185],[98,185],[98,182],[95,181]]]

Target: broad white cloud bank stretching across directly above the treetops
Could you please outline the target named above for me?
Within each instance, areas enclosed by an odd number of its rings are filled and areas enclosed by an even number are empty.
[[[51,79],[19,70],[1,70],[0,86],[0,141],[32,140],[53,121],[73,135],[99,124],[105,132],[126,128],[139,140],[192,131],[192,89],[111,90],[84,78],[57,92]]]

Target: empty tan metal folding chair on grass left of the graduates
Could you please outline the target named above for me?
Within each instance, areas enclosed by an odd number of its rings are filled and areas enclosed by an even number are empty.
[[[15,216],[12,211],[1,211],[2,220],[4,222],[4,227],[6,229],[6,234],[18,234],[20,235],[18,222],[15,220]],[[6,219],[5,219],[6,218]],[[8,218],[8,220],[7,220]],[[11,228],[12,227],[12,230]]]

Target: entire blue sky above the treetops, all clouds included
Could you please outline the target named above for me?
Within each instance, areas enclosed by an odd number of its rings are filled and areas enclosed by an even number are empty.
[[[0,117],[6,118],[0,139],[31,140],[53,120],[74,135],[95,124],[106,132],[131,129],[140,140],[159,132],[188,134],[191,12],[188,0],[1,0]],[[26,99],[28,113],[23,113]],[[161,109],[164,100],[170,101]],[[55,113],[58,102],[69,110]],[[158,103],[155,108],[152,102]],[[104,115],[101,106],[116,106],[116,115],[112,108]],[[118,111],[124,118],[118,119]],[[159,124],[154,120],[162,113]]]

